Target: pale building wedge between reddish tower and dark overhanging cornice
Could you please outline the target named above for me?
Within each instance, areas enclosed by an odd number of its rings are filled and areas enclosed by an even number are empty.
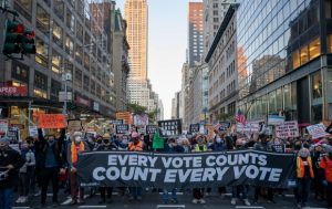
[[[228,7],[236,0],[204,0],[204,59],[206,58]]]

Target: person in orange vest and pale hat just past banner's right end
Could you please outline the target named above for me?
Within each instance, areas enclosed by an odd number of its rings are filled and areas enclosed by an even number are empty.
[[[314,177],[310,150],[301,148],[297,157],[297,205],[307,207],[310,181]]]

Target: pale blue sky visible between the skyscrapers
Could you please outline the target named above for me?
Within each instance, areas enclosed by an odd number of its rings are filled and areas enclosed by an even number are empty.
[[[116,0],[124,11],[125,0]],[[170,118],[172,98],[180,90],[181,66],[186,62],[189,0],[147,0],[148,77]],[[124,15],[124,12],[123,12]]]

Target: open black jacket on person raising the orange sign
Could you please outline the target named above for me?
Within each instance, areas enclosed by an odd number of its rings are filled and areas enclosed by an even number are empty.
[[[64,166],[64,157],[63,157],[63,142],[65,138],[65,129],[61,129],[61,135],[55,143],[52,145],[53,154],[58,161],[59,167]],[[49,143],[44,138],[42,129],[38,129],[38,142],[35,142],[35,167],[37,168],[44,168],[45,167],[45,159],[46,153],[49,148]]]

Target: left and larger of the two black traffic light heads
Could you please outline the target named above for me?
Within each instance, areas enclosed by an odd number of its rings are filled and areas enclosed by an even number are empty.
[[[21,53],[24,25],[18,21],[7,21],[3,54]]]

